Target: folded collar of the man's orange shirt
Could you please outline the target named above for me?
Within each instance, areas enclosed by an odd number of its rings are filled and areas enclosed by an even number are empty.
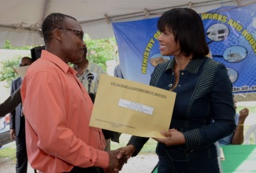
[[[72,74],[76,75],[76,71],[73,68],[71,68],[69,64],[66,64],[64,61],[61,60],[60,57],[57,57],[56,55],[48,52],[47,50],[42,50],[41,58],[56,64],[65,73],[71,71]]]

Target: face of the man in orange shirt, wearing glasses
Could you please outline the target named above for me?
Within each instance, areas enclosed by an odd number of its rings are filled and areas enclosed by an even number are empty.
[[[62,50],[66,63],[77,63],[83,58],[83,30],[80,24],[69,17],[65,18],[65,26],[62,31]]]

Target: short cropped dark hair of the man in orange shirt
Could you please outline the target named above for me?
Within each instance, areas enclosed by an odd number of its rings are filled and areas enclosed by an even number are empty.
[[[42,34],[45,43],[50,42],[53,38],[54,29],[65,28],[65,17],[76,20],[74,17],[62,13],[51,13],[45,20],[43,20]]]

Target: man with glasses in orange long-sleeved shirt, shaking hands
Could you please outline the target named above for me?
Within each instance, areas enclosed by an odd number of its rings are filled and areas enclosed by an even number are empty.
[[[52,13],[43,21],[46,50],[21,85],[28,161],[42,172],[121,170],[126,157],[103,151],[102,130],[89,127],[91,98],[69,62],[83,58],[83,30],[77,20]]]

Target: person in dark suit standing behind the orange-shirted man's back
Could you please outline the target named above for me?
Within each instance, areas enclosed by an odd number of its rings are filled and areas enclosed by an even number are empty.
[[[32,64],[30,57],[22,57],[19,67],[24,67]],[[22,78],[18,77],[12,81],[11,94],[20,89]],[[17,97],[18,99],[20,97]],[[25,120],[22,112],[21,101],[19,105],[9,114],[9,134],[10,137],[16,141],[16,172],[27,172],[28,170],[28,155],[26,149],[26,135],[25,135]]]

